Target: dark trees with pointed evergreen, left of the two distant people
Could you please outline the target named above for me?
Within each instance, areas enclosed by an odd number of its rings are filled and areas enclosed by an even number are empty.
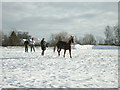
[[[12,30],[10,35],[4,35],[2,33],[2,46],[21,46],[23,45],[23,39],[26,38],[31,38],[28,32]]]

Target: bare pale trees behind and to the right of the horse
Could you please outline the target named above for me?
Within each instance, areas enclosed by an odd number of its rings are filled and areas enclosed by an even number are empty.
[[[106,26],[104,31],[105,38],[94,36],[93,34],[85,34],[84,37],[75,36],[75,44],[81,45],[119,45],[120,46],[120,28],[118,26]],[[54,46],[59,40],[66,41],[70,35],[67,32],[52,34],[50,37],[50,45]]]

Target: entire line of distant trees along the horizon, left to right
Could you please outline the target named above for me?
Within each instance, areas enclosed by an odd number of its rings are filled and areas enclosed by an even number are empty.
[[[2,33],[2,32],[0,32]],[[118,26],[105,27],[105,38],[102,37],[95,37],[92,34],[85,34],[84,37],[77,37],[74,36],[74,43],[81,44],[81,45],[119,45],[120,46],[120,29]],[[1,35],[1,34],[0,34]],[[23,44],[23,39],[30,39],[31,35],[28,32],[18,32],[13,30],[10,35],[2,34],[2,46],[20,46]],[[56,34],[51,34],[49,40],[49,46],[54,46],[57,41],[67,41],[70,35],[67,32],[60,32]]]

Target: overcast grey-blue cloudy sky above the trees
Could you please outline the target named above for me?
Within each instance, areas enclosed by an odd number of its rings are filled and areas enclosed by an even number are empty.
[[[2,30],[16,28],[38,38],[68,32],[77,37],[91,33],[104,37],[107,25],[118,22],[117,2],[3,2]]]

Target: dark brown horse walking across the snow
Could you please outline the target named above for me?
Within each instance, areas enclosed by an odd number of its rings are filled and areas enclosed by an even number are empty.
[[[70,58],[72,58],[72,56],[71,56],[71,45],[72,45],[72,43],[74,43],[74,37],[73,36],[70,37],[70,40],[68,42],[58,41],[57,44],[54,47],[54,52],[55,52],[56,47],[57,47],[58,55],[60,56],[61,49],[64,49],[64,57],[65,57],[66,50],[69,50]]]

